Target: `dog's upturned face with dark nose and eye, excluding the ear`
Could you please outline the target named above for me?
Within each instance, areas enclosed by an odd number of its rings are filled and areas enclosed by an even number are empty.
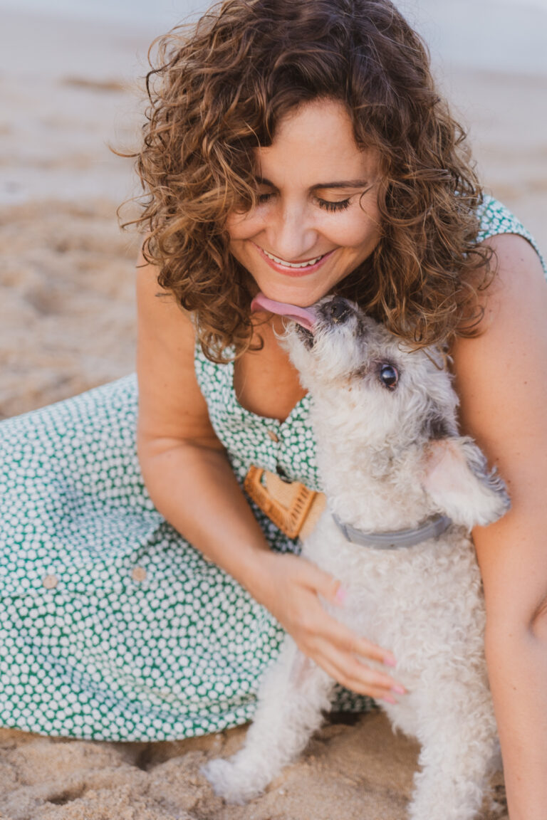
[[[308,330],[289,326],[286,344],[316,402],[344,403],[369,439],[410,444],[456,432],[458,399],[440,353],[411,350],[348,299],[327,296]],[[361,413],[359,412],[361,411]]]

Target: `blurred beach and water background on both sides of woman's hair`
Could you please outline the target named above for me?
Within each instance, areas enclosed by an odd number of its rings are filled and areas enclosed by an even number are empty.
[[[298,0],[297,0],[298,2]],[[547,249],[547,0],[399,0],[481,178]],[[134,368],[116,206],[154,37],[201,0],[0,0],[0,417]]]

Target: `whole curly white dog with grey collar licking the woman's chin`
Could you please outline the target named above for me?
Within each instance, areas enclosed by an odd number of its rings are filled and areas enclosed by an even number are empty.
[[[312,395],[327,498],[303,555],[349,590],[330,613],[397,659],[408,692],[379,705],[422,745],[409,817],[471,820],[499,748],[469,532],[503,516],[508,495],[458,435],[438,351],[410,351],[340,297],[317,303],[312,330],[291,323],[286,337]],[[260,794],[321,725],[334,686],[287,636],[243,748],[203,768],[217,794],[239,804]]]

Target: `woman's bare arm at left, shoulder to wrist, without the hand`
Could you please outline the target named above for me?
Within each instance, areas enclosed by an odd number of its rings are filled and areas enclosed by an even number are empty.
[[[139,268],[139,460],[167,521],[212,561],[248,585],[267,544],[245,503],[194,375],[194,328],[155,271]],[[212,514],[214,511],[214,514]],[[238,549],[224,549],[226,526]]]

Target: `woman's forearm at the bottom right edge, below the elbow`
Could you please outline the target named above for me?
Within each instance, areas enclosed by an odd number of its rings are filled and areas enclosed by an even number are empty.
[[[510,820],[547,817],[547,624],[486,631]]]

